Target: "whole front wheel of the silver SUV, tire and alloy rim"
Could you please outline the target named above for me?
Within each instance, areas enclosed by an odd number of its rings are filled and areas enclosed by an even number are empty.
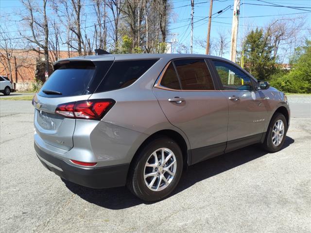
[[[287,133],[287,121],[283,114],[276,113],[269,124],[263,148],[269,152],[281,150]]]

